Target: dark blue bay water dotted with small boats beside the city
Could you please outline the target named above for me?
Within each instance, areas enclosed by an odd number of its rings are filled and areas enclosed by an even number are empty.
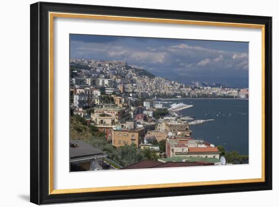
[[[249,100],[242,99],[179,99],[164,100],[165,106],[185,103],[193,107],[179,111],[182,116],[214,119],[191,125],[191,137],[224,146],[226,151],[236,150],[249,154]]]

